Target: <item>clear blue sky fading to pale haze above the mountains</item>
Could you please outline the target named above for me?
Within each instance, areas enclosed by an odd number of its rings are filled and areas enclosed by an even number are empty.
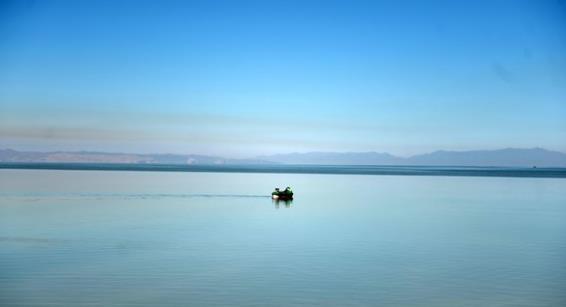
[[[0,148],[566,152],[566,1],[0,0]]]

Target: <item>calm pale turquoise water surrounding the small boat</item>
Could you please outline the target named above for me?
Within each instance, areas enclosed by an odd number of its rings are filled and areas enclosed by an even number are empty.
[[[0,170],[0,305],[565,306],[566,179]]]

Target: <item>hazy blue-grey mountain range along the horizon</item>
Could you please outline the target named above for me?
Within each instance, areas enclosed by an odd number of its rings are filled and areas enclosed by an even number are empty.
[[[153,163],[153,164],[322,164],[566,167],[566,154],[542,148],[435,151],[411,157],[377,152],[309,152],[228,159],[205,155],[129,154],[106,152],[28,152],[0,150],[0,162]]]

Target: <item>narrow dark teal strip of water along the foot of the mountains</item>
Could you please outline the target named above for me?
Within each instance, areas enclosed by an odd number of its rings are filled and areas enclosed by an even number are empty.
[[[566,178],[566,168],[387,165],[187,165],[2,162],[0,169]]]

